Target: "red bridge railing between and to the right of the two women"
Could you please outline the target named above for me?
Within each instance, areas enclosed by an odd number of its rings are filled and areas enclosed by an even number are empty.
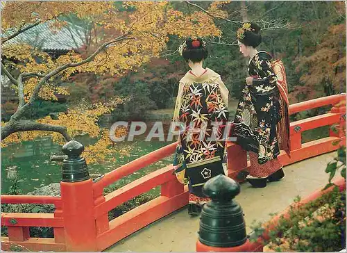
[[[339,148],[338,143],[344,144],[346,142],[346,136],[344,136],[344,126],[346,123],[345,93],[291,104],[289,106],[289,113],[293,115],[294,113],[300,113],[322,106],[332,106],[332,109],[328,113],[307,117],[303,120],[290,123],[291,156],[289,157],[285,152],[281,151],[278,157],[282,165],[296,163],[306,158],[332,152]],[[302,133],[304,131],[316,129],[321,126],[335,126],[335,130],[330,129],[328,137],[303,143]],[[228,154],[232,154],[232,158],[228,158],[228,174],[229,177],[237,179],[237,174],[243,170],[247,170],[251,164],[249,161],[247,162],[247,154],[241,147],[234,143],[229,143],[227,147]]]

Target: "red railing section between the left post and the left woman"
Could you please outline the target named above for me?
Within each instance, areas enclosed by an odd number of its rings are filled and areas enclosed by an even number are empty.
[[[155,152],[137,158],[135,161],[105,174],[105,177],[94,183],[94,215],[99,250],[104,250],[122,238],[133,234],[138,229],[149,225],[155,220],[159,220],[188,203],[187,187],[177,181],[176,176],[173,174],[174,168],[172,165],[151,172],[103,196],[104,187],[173,154],[175,149],[176,143],[162,147]],[[109,211],[129,199],[133,199],[133,197],[148,192],[156,186],[160,186],[161,188],[159,197],[120,215],[110,222],[108,221]]]

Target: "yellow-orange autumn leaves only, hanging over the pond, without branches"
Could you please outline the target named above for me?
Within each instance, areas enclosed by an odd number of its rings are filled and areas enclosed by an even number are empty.
[[[224,2],[212,2],[208,12],[219,17],[226,17],[226,13],[219,10]],[[221,31],[214,24],[214,19],[198,8],[192,8],[191,13],[187,14],[176,10],[169,1],[124,1],[121,7],[125,8],[126,11],[119,11],[117,6],[119,8],[119,4],[114,2],[7,2],[3,4],[1,12],[1,32],[6,33],[6,31],[11,30],[13,33],[35,22],[51,22],[52,30],[56,30],[67,25],[67,22],[58,18],[60,15],[76,15],[104,29],[106,35],[90,45],[92,49],[96,49],[103,42],[112,40],[112,38],[117,38],[122,33],[132,32],[128,36],[132,40],[110,44],[92,62],[79,67],[68,68],[60,73],[63,81],[68,80],[75,72],[121,76],[128,71],[136,71],[137,67],[149,62],[151,58],[160,56],[160,53],[167,47],[170,35],[177,35],[181,38],[192,35],[200,37],[221,35]],[[8,35],[10,34],[8,33]],[[47,74],[66,63],[78,63],[87,57],[70,51],[53,59],[49,54],[28,44],[12,43],[3,45],[2,54],[10,62],[4,63],[6,67],[11,65],[21,73],[37,72],[42,74]],[[24,99],[26,101],[30,99],[39,82],[39,77],[25,79]],[[44,83],[39,93],[40,99],[44,100],[57,100],[57,95],[69,95],[69,90],[56,85],[53,79]],[[110,152],[112,152],[110,147],[113,147],[113,144],[108,137],[108,131],[101,129],[97,120],[101,115],[114,110],[117,104],[122,101],[116,97],[108,104],[75,106],[69,108],[67,113],[60,113],[58,120],[44,117],[37,122],[66,126],[67,132],[72,137],[88,134],[92,138],[99,138],[94,145],[86,147],[83,156],[91,163],[104,161],[106,156],[110,156]],[[3,126],[4,123],[1,122],[1,125]],[[117,129],[117,131],[117,135],[126,134],[126,129]],[[3,140],[1,145],[5,146],[10,142],[33,140],[39,136],[48,135],[56,142],[65,142],[60,133],[27,131],[12,133]],[[128,149],[121,150],[124,154],[127,154],[128,151]]]

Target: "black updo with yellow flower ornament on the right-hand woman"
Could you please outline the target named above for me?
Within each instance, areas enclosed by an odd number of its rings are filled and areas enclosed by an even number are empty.
[[[260,35],[260,26],[255,23],[244,23],[236,33],[237,40],[242,44],[251,47],[257,47],[262,42],[262,35]]]

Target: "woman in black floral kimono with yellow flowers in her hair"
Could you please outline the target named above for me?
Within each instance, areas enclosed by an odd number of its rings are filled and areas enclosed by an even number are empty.
[[[239,51],[249,57],[246,83],[232,125],[232,137],[249,152],[251,166],[246,178],[253,187],[284,177],[277,156],[289,154],[289,111],[285,70],[280,60],[255,49],[262,41],[260,27],[245,23],[237,31]],[[278,76],[274,72],[276,67]],[[280,80],[278,80],[280,78]]]

